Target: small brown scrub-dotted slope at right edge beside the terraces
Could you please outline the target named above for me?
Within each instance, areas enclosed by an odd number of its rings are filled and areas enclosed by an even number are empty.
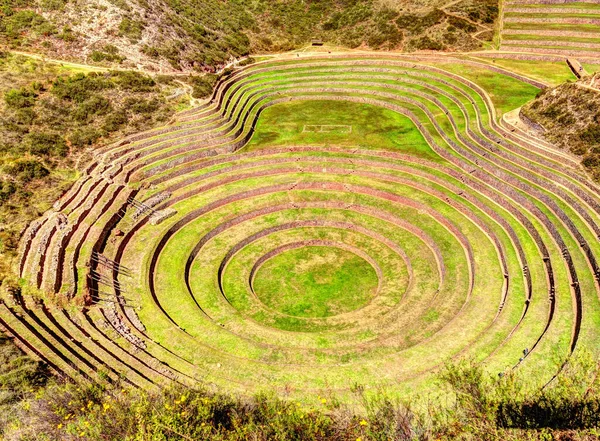
[[[521,115],[547,141],[577,155],[600,181],[600,90],[590,77],[542,91]]]

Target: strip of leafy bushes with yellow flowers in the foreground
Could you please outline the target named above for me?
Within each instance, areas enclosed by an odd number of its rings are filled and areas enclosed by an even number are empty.
[[[31,363],[16,360],[11,363],[17,369]],[[325,408],[313,408],[268,394],[243,398],[202,387],[150,392],[120,385],[51,384],[13,423],[19,439],[31,440],[591,441],[600,423],[599,370],[597,360],[583,350],[549,387],[525,391],[528,379],[518,370],[500,378],[463,360],[447,364],[439,374],[448,394],[442,400],[402,402],[384,391],[368,397],[357,386],[353,393],[359,405],[352,408],[335,397]],[[17,390],[43,380],[30,378],[17,382]],[[22,408],[18,401],[14,406],[9,409]]]

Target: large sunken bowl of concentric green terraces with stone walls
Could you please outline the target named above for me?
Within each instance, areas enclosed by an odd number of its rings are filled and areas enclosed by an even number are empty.
[[[541,86],[446,57],[235,70],[98,152],[24,234],[0,324],[65,375],[139,387],[352,401],[435,391],[458,357],[542,386],[597,347],[600,198],[500,118]]]

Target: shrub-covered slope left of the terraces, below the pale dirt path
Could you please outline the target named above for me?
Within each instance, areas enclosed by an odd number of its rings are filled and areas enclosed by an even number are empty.
[[[80,156],[164,123],[180,101],[167,102],[165,86],[139,72],[58,76],[55,65],[12,54],[0,64],[8,78],[0,115],[1,283],[8,272],[3,262],[16,253],[22,229],[66,191]]]

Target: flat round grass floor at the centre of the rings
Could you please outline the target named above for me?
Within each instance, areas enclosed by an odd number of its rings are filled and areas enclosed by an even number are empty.
[[[266,261],[254,291],[269,308],[295,317],[330,317],[365,306],[377,293],[369,262],[341,248],[306,246]]]

